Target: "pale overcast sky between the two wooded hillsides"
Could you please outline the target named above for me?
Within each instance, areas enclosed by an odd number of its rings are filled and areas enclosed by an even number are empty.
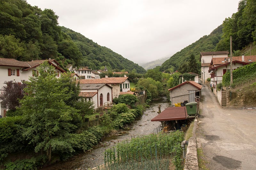
[[[176,52],[237,12],[239,0],[27,0],[52,9],[59,25],[135,63]]]

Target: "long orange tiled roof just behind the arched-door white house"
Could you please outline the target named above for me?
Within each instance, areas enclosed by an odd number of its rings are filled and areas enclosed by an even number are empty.
[[[107,83],[107,84],[119,84],[127,80],[128,77],[111,77],[102,79],[83,79],[80,80],[80,84],[97,84],[97,83]]]

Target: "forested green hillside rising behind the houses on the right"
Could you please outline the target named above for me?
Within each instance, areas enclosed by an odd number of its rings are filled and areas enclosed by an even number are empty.
[[[166,60],[161,71],[172,72],[186,67],[191,54],[194,54],[199,63],[200,52],[205,51],[230,51],[230,36],[232,36],[232,52],[241,55],[255,55],[243,48],[256,41],[256,1],[239,1],[237,12],[223,21],[223,24],[216,28],[210,35],[205,35],[195,43],[180,50],[171,58]],[[198,67],[198,71],[199,71]]]

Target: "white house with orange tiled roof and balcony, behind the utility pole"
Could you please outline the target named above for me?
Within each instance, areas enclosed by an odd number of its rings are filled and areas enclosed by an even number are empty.
[[[256,56],[239,56],[232,57],[232,70],[236,70],[239,67],[256,62]],[[211,87],[213,93],[217,94],[216,85],[222,82],[222,76],[227,71],[230,71],[230,58],[212,58],[208,72],[211,75]]]

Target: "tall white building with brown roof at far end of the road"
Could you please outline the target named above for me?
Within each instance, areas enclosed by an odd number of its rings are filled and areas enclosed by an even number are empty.
[[[211,75],[208,73],[209,66],[211,64],[212,58],[219,57],[228,57],[228,51],[211,51],[211,52],[200,52],[200,61],[201,61],[201,79],[203,83],[206,82],[207,78],[210,78]]]

